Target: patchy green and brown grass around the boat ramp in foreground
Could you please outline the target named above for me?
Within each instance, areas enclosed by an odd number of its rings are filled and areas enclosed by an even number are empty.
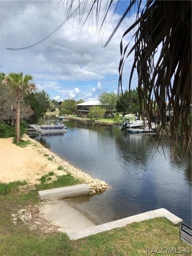
[[[53,174],[50,173],[50,176]],[[64,176],[61,176],[64,179]],[[2,256],[142,256],[146,248],[182,247],[179,239],[179,228],[164,218],[132,223],[123,228],[92,235],[76,241],[70,241],[64,233],[42,232],[31,230],[30,226],[20,220],[13,223],[12,214],[18,210],[34,207],[39,203],[38,190],[57,186],[68,186],[78,180],[65,177],[59,180],[36,185],[34,190],[12,190],[0,195],[0,255]],[[24,183],[25,184],[25,183]],[[35,215],[32,215],[35,218]],[[44,225],[44,224],[43,224]],[[169,254],[173,255],[173,254]],[[179,255],[179,254],[178,254]]]

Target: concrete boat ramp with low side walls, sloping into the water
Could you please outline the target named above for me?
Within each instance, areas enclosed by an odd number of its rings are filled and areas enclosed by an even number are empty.
[[[86,184],[80,184],[75,186],[64,188],[64,194],[69,193],[68,191],[70,190],[72,191],[70,193],[73,195],[73,197],[75,197],[78,196],[78,189],[80,189],[82,194],[85,194],[85,191],[87,191]],[[72,189],[72,187],[74,188]],[[74,193],[74,191],[76,191],[77,194]],[[46,190],[44,190],[43,192],[40,191],[39,195],[42,194],[43,197],[46,197],[46,199],[48,199],[48,197],[52,199],[58,198],[58,193],[60,194],[60,196],[62,196],[62,188],[53,189],[51,192],[50,190],[47,190],[47,192]],[[49,196],[47,196],[47,194]],[[62,197],[64,197],[64,195]],[[87,199],[89,200],[88,196]],[[174,225],[182,221],[182,219],[178,218],[176,215],[172,214],[168,210],[160,208],[157,210],[136,214],[134,216],[102,224],[103,220],[102,218],[97,216],[97,214],[92,212],[90,209],[83,209],[83,207],[81,209],[76,208],[75,204],[69,199],[57,199],[49,201],[46,200],[42,203],[41,209],[41,213],[43,214],[44,218],[54,226],[57,226],[58,231],[65,232],[71,240],[76,240],[79,238],[90,236],[92,234],[111,230],[113,228],[120,228],[132,222],[140,222],[143,220],[157,217],[167,218]]]

